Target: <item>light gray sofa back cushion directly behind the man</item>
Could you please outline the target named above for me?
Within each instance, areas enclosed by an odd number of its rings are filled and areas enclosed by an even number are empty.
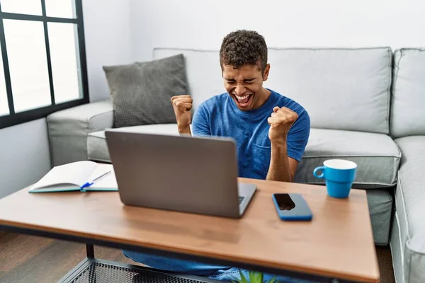
[[[159,48],[154,59],[183,54],[193,107],[224,93],[217,51]],[[389,133],[392,52],[364,49],[268,49],[266,88],[300,103],[311,125]]]

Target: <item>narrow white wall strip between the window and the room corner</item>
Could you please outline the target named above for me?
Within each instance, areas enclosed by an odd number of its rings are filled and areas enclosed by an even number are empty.
[[[83,0],[90,100],[108,98],[103,66],[131,62],[130,1]]]

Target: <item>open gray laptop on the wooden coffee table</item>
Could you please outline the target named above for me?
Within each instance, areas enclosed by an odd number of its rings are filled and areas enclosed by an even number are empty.
[[[239,218],[256,192],[238,183],[234,139],[105,134],[123,204]]]

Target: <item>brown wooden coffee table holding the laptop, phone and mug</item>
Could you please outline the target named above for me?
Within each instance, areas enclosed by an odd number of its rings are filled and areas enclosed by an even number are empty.
[[[125,206],[118,192],[26,188],[0,200],[0,230],[84,242],[89,259],[98,244],[319,281],[379,282],[365,191],[338,200],[322,186],[239,180],[258,187],[241,219]],[[274,192],[302,194],[312,221],[281,221]]]

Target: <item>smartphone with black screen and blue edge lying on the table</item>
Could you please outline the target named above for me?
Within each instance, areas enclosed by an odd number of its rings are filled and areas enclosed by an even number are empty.
[[[273,202],[282,220],[310,221],[312,212],[300,194],[273,194]]]

